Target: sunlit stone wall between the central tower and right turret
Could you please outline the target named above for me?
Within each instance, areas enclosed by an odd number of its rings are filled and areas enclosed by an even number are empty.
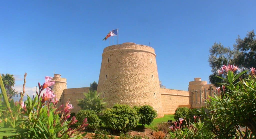
[[[160,89],[164,114],[174,114],[179,106],[190,108],[191,96],[188,91]]]

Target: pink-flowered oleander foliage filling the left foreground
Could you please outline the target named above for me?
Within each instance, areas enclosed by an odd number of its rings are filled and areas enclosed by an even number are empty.
[[[25,87],[24,75],[24,87]],[[87,124],[84,122],[76,129],[69,129],[70,125],[76,123],[75,117],[71,122],[66,122],[70,115],[69,102],[65,106],[57,109],[57,101],[53,98],[40,96],[42,86],[39,87],[34,100],[29,96],[25,102],[22,101],[24,92],[21,94],[21,99],[14,103],[12,99],[8,101],[5,86],[0,76],[0,88],[5,104],[2,106],[0,100],[0,138],[82,138],[86,132],[83,132]],[[50,90],[49,90],[50,91]],[[49,96],[49,95],[48,95]],[[53,96],[51,96],[53,97]],[[59,114],[61,116],[59,116]]]

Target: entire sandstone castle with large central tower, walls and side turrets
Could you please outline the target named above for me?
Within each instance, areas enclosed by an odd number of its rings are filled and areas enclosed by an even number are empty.
[[[59,103],[65,104],[71,98],[70,104],[74,106],[71,112],[79,111],[77,99],[84,98],[83,93],[89,92],[89,87],[67,89],[67,79],[60,74],[54,74],[52,80],[55,85],[51,87]],[[157,111],[158,117],[163,117],[174,114],[178,107],[200,107],[202,96],[214,93],[212,86],[195,78],[189,82],[188,91],[166,89],[158,78],[154,48],[123,43],[104,48],[97,92],[109,108],[115,103],[148,104]],[[202,90],[200,94],[199,90]]]

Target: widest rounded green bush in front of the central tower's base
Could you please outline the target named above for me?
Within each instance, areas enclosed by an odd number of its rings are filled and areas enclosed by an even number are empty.
[[[115,104],[112,109],[106,109],[103,123],[115,131],[128,131],[137,126],[139,117],[129,105]]]

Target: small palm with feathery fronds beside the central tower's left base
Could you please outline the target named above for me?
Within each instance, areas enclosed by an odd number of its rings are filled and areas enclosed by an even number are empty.
[[[97,91],[89,91],[89,93],[84,93],[83,99],[78,99],[77,105],[83,110],[93,110],[99,113],[106,103],[100,98],[100,93],[97,93]]]

